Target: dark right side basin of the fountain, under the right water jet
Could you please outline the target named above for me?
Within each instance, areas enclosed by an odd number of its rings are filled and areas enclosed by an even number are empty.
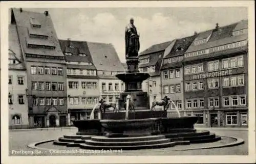
[[[193,129],[198,117],[160,118],[159,128],[161,132],[170,132],[174,129]]]

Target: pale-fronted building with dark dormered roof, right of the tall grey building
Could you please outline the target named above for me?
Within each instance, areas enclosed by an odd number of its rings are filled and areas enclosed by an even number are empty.
[[[67,63],[68,118],[89,119],[98,103],[99,85],[97,70],[86,41],[59,40]],[[98,117],[95,112],[94,117]]]

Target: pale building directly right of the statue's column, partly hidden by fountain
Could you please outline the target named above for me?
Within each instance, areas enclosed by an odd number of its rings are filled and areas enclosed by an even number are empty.
[[[161,99],[161,78],[160,68],[163,60],[163,56],[167,48],[172,41],[155,44],[139,54],[139,72],[147,72],[150,74],[150,78],[143,81],[142,90],[147,92],[150,96],[150,107],[152,102]],[[156,106],[155,110],[162,110],[162,106]]]

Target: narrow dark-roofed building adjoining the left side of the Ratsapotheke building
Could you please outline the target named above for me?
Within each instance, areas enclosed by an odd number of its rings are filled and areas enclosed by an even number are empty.
[[[161,67],[161,92],[162,97],[168,96],[172,99],[169,106],[168,117],[178,117],[176,107],[181,116],[184,116],[183,106],[183,67],[181,61],[184,58],[184,52],[196,38],[194,36],[175,39],[169,45],[170,52],[164,56]]]

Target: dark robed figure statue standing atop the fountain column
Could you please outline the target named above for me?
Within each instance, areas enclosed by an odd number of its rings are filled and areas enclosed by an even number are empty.
[[[125,57],[138,57],[140,49],[139,35],[134,25],[134,19],[125,27]]]

